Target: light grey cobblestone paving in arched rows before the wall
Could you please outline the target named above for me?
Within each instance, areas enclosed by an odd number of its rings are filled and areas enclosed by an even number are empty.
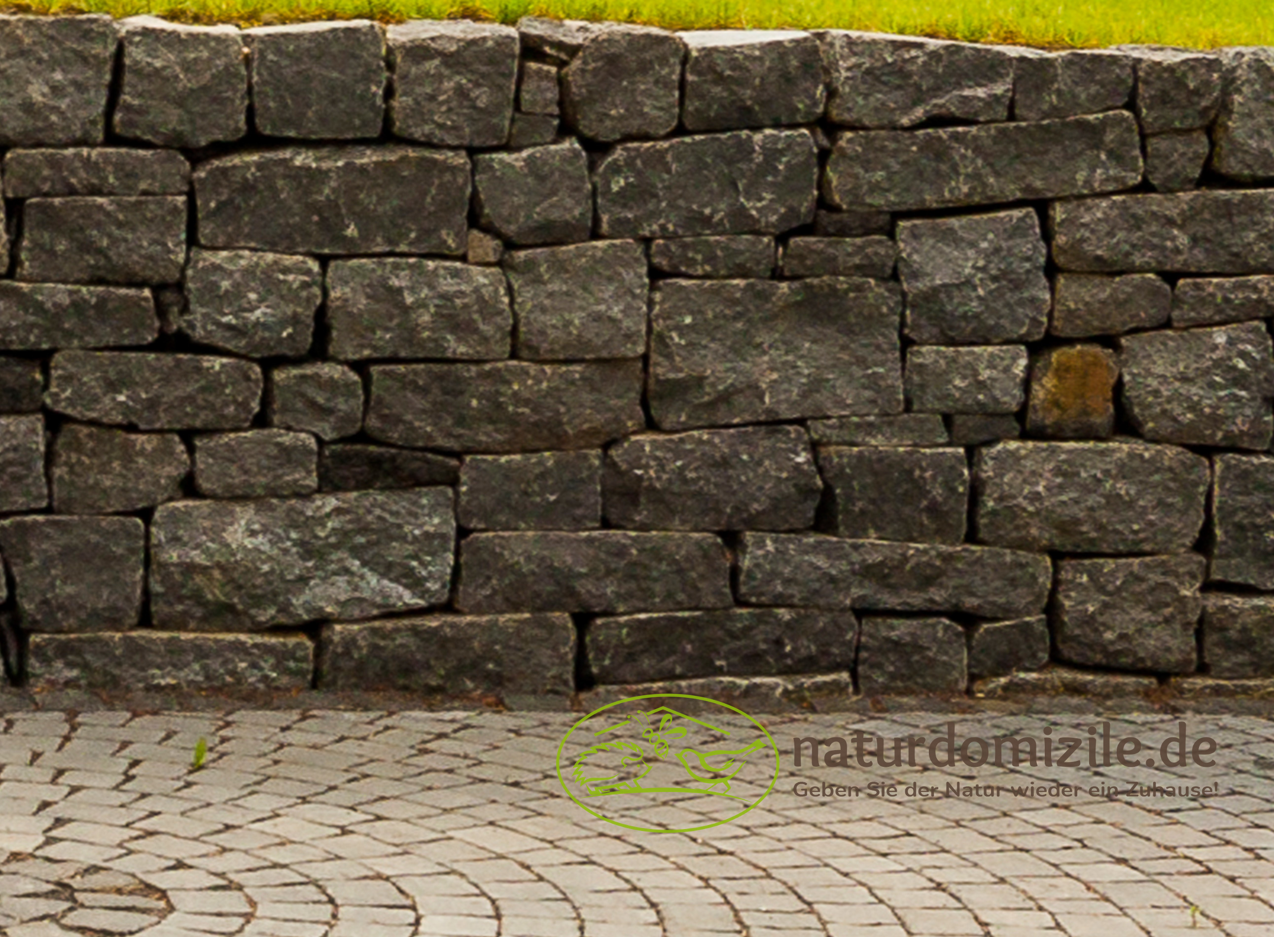
[[[945,716],[764,719],[773,793],[694,832],[594,818],[557,780],[572,716],[10,714],[0,734],[8,937],[1269,937],[1274,722],[1185,716],[1213,767],[810,769],[795,736],[906,736]],[[962,718],[1041,736],[1078,716]],[[1120,716],[1171,734],[1178,716]],[[1080,730],[1082,732],[1082,730]],[[192,752],[206,739],[203,767]],[[852,775],[852,776],[851,776]],[[796,781],[981,795],[799,797]],[[1210,797],[986,795],[1024,781],[1215,785]],[[1140,789],[1140,788],[1139,788]],[[712,804],[683,798],[678,816]]]

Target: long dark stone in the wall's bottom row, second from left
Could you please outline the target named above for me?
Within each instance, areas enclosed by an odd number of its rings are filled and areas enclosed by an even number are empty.
[[[575,625],[566,614],[431,614],[326,625],[324,690],[569,696]]]

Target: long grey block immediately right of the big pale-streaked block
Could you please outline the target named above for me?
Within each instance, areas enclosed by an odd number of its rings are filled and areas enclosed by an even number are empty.
[[[462,612],[729,608],[730,562],[712,534],[624,530],[473,534],[460,544]]]

